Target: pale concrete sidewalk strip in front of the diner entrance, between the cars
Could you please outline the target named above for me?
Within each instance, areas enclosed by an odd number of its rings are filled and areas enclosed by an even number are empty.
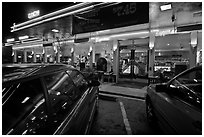
[[[135,83],[134,85],[135,87],[128,83],[116,84],[104,82],[99,86],[99,93],[145,99],[147,85],[144,83],[142,86],[138,86],[141,85],[140,83]]]

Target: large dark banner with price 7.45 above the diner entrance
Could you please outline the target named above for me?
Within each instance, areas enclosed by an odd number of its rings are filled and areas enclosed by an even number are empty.
[[[122,2],[73,15],[72,33],[94,32],[148,22],[148,2]]]

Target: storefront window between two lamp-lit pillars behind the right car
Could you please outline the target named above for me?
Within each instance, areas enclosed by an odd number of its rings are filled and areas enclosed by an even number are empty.
[[[190,34],[156,37],[154,76],[160,73],[169,79],[189,68]]]

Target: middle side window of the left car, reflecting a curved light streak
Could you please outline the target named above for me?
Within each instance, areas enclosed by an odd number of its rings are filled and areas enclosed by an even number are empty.
[[[56,121],[61,122],[78,99],[73,81],[65,72],[56,72],[44,77]]]

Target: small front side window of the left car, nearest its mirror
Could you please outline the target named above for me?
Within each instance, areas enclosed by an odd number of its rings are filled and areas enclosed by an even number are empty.
[[[84,76],[77,70],[67,70],[67,73],[70,75],[81,94],[83,94],[88,89],[88,82]]]

